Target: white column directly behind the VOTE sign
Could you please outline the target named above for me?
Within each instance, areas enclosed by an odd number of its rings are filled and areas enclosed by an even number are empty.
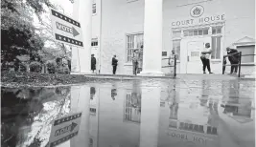
[[[83,48],[72,48],[72,73],[91,72],[92,0],[75,0],[73,17],[81,23]]]

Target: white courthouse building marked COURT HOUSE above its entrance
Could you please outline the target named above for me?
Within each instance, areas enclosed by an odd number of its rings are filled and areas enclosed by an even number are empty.
[[[98,60],[98,72],[112,73],[111,58],[116,54],[117,73],[132,74],[132,52],[143,44],[143,62],[148,63],[143,63],[142,71],[148,67],[148,72],[153,71],[150,65],[155,64],[154,69],[160,64],[167,66],[168,60],[163,58],[175,50],[177,73],[202,73],[199,56],[205,43],[213,50],[213,73],[221,73],[227,47],[243,54],[255,53],[254,0],[159,1],[162,6],[156,0],[93,1],[91,53]],[[255,56],[243,57],[242,63],[242,73],[253,73]],[[158,72],[170,70],[161,68]]]

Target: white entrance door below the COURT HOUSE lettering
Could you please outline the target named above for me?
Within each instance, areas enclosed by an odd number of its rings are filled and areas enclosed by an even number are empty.
[[[187,42],[187,73],[202,73],[200,54],[205,43],[211,44],[211,37],[194,38]]]

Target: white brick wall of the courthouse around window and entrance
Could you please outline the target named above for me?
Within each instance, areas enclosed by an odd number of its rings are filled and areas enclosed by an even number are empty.
[[[172,22],[190,19],[190,10],[195,5],[180,7],[180,5],[188,4],[188,1],[184,0],[164,0],[163,3],[162,50],[169,54],[173,49]],[[202,17],[215,14],[225,15],[222,50],[244,36],[255,36],[254,0],[213,0],[199,3],[199,5],[204,7]],[[126,0],[107,0],[103,1],[102,10],[102,73],[111,73],[111,57],[117,54],[119,58],[117,73],[131,74],[131,66],[126,66],[126,34],[143,31],[144,0],[132,3],[127,3]],[[166,65],[165,62],[163,64]],[[212,67],[219,68],[219,64],[214,64]],[[180,67],[178,66],[177,69],[179,71]],[[168,69],[163,71],[166,72]]]

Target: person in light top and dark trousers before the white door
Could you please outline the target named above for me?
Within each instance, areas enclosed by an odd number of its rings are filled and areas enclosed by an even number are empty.
[[[211,67],[210,67],[210,56],[211,56],[212,50],[210,47],[211,47],[210,43],[206,43],[205,48],[203,48],[203,51],[201,52],[200,58],[201,58],[201,62],[202,62],[203,73],[206,73],[205,72],[206,67],[207,67],[208,72],[212,73]]]

